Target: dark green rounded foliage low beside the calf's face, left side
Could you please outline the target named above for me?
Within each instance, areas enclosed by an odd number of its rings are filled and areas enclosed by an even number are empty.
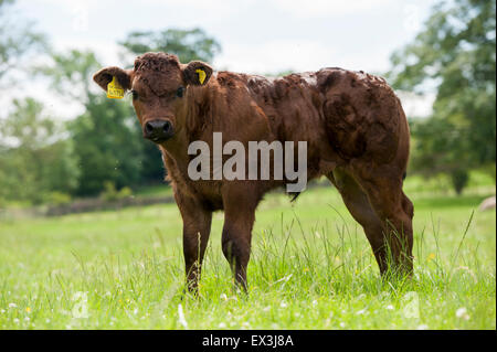
[[[98,194],[105,181],[118,188],[139,182],[142,161],[141,132],[129,105],[94,97],[86,111],[70,127],[80,160],[77,193]]]

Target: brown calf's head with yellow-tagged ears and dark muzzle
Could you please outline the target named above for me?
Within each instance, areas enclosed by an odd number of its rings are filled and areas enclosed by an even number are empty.
[[[104,89],[115,78],[133,94],[133,105],[144,137],[163,143],[186,126],[189,88],[207,85],[212,68],[200,61],[181,64],[176,55],[146,53],[133,70],[116,66],[98,71],[93,79]]]

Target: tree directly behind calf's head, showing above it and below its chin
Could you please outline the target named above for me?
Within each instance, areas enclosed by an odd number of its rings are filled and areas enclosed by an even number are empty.
[[[120,45],[125,50],[123,56],[128,61],[146,52],[165,52],[178,55],[182,63],[193,60],[211,62],[221,51],[221,45],[201,29],[131,32],[120,42]],[[163,177],[160,151],[154,142],[148,140],[144,141],[142,166],[145,180],[154,182]]]

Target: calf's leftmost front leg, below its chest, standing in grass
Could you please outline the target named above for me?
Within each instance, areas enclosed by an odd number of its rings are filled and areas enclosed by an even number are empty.
[[[205,210],[197,200],[175,192],[178,207],[183,218],[183,255],[187,287],[198,292],[202,260],[211,233],[212,212]]]

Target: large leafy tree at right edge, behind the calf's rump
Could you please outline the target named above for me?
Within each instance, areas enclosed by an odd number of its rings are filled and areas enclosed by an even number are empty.
[[[391,56],[394,88],[435,87],[433,116],[413,121],[413,171],[452,177],[461,192],[474,168],[496,162],[496,4],[454,0],[435,6],[425,29]]]

